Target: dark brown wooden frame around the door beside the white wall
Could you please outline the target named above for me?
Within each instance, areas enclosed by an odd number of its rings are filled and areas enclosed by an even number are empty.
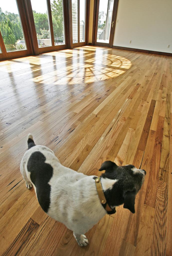
[[[106,47],[112,48],[112,46],[113,46],[113,39],[114,39],[114,33],[115,33],[116,16],[117,16],[117,9],[118,9],[118,0],[114,0],[114,4],[113,4],[112,21],[111,21],[111,30],[112,30],[112,32],[110,33],[109,44],[108,43],[97,42],[99,3],[100,3],[100,0],[94,1],[93,28],[92,28],[92,45],[106,46]],[[112,22],[113,22],[113,27],[112,27]]]

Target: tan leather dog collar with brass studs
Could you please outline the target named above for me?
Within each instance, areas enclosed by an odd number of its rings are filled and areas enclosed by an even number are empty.
[[[116,212],[116,210],[115,210],[115,208],[112,209],[108,205],[108,203],[106,201],[106,198],[104,196],[104,192],[103,192],[102,186],[101,186],[100,178],[96,178],[95,179],[95,183],[96,183],[97,193],[98,193],[98,196],[99,196],[99,199],[100,199],[100,202],[101,202],[102,206],[107,211],[107,214],[114,214]]]

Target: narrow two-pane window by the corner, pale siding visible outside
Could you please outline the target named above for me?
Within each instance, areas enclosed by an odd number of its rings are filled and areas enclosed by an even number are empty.
[[[72,1],[72,42],[73,47],[86,44],[86,0]]]

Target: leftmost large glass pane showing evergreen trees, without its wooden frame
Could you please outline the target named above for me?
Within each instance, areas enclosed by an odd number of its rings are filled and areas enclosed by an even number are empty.
[[[7,52],[27,49],[16,0],[0,3],[0,30]]]

